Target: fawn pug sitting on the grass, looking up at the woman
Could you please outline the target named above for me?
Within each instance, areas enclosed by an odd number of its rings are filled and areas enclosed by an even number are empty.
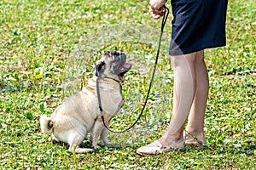
[[[54,113],[40,117],[40,127],[43,133],[51,134],[51,139],[69,144],[69,151],[88,153],[99,149],[97,139],[108,146],[109,122],[124,104],[121,82],[124,75],[131,69],[131,63],[125,63],[126,55],[116,51],[108,51],[96,61],[95,76],[86,87],[77,94],[67,98],[56,108]],[[97,82],[98,81],[98,82]],[[100,93],[100,102],[97,98]],[[99,109],[101,103],[102,111]],[[90,133],[90,140],[94,149],[80,148],[79,145]]]

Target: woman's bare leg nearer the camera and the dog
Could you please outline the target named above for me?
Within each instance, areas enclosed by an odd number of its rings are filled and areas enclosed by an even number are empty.
[[[172,119],[166,133],[159,139],[163,147],[183,147],[183,128],[195,97],[196,53],[172,57],[174,92]]]

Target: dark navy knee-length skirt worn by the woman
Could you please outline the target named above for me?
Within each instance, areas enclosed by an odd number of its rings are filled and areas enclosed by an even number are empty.
[[[228,0],[172,0],[170,55],[190,54],[226,44]]]

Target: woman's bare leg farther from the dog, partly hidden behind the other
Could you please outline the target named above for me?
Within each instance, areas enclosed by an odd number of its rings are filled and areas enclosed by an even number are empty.
[[[209,79],[207,73],[207,66],[204,60],[204,51],[196,53],[195,56],[195,79],[196,79],[196,88],[195,88],[195,99],[189,113],[189,121],[187,126],[187,131],[197,139],[200,139],[202,143],[206,143],[204,136],[204,118],[207,106],[207,97],[209,91]],[[193,144],[193,138],[186,134],[186,143]],[[197,142],[194,141],[194,144]]]

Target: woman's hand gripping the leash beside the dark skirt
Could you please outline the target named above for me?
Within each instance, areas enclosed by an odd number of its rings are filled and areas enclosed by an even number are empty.
[[[152,15],[154,20],[159,19],[166,12],[165,4],[167,0],[150,0],[149,13]]]

